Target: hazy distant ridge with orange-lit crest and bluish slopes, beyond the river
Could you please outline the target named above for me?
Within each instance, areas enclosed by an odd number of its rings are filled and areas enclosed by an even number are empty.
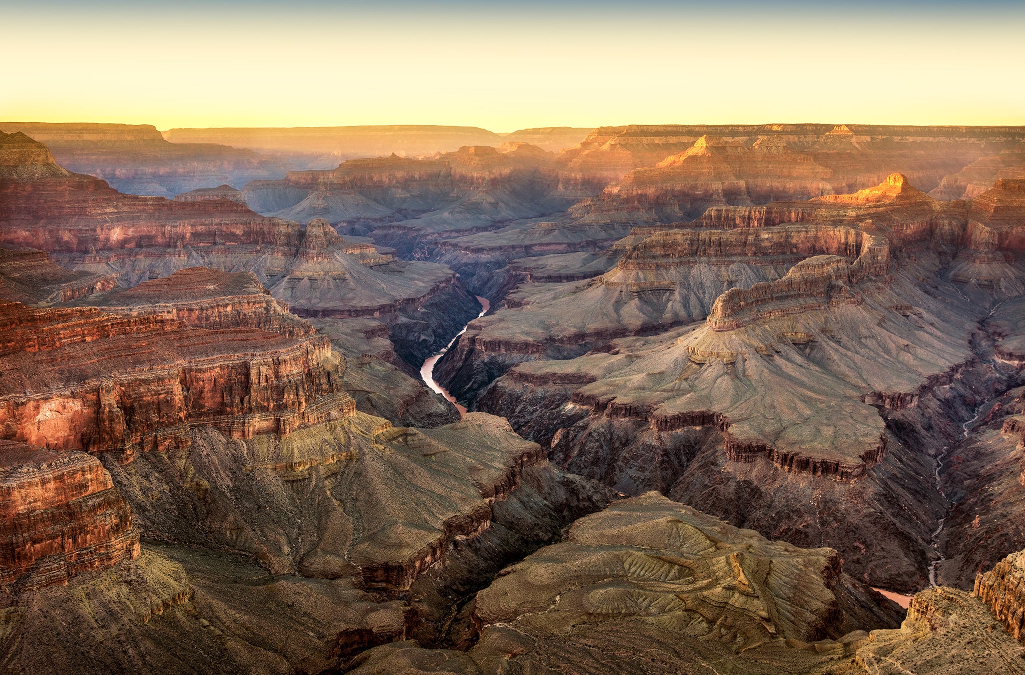
[[[412,250],[440,236],[490,230],[569,205],[550,193],[551,153],[523,143],[463,147],[430,158],[355,159],[329,171],[294,171],[246,186],[261,213],[306,222],[324,217]],[[387,225],[391,224],[391,225]]]

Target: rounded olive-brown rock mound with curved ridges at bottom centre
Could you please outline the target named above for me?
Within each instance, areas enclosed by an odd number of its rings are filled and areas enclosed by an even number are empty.
[[[679,673],[708,662],[804,672],[850,659],[865,633],[843,637],[849,631],[890,627],[899,616],[844,574],[834,551],[770,543],[651,493],[577,521],[565,542],[480,592],[473,612],[482,634],[468,651],[399,642],[361,656],[355,672],[426,672],[438,663],[529,672],[558,663]],[[646,649],[626,646],[638,643]]]

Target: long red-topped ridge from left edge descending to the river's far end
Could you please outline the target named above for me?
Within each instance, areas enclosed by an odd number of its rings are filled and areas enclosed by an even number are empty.
[[[40,248],[58,265],[128,285],[197,266],[251,271],[299,315],[383,318],[411,363],[480,311],[450,269],[397,262],[324,221],[303,228],[230,200],[123,195],[78,174],[0,177],[0,243]]]

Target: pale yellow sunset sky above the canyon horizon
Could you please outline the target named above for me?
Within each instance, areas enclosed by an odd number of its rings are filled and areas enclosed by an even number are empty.
[[[0,17],[4,121],[1025,124],[1020,1],[0,0]]]

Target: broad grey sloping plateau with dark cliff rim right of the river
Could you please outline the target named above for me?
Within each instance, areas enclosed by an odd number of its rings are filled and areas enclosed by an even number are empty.
[[[968,301],[926,292],[917,271],[886,271],[885,247],[853,265],[812,257],[722,294],[703,326],[521,363],[478,406],[619,491],[659,489],[796,545],[835,546],[873,583],[914,588],[930,549],[891,542],[928,541],[944,505],[914,478],[931,460],[888,421],[977,374],[972,326],[957,318]],[[904,508],[922,517],[892,515]]]

